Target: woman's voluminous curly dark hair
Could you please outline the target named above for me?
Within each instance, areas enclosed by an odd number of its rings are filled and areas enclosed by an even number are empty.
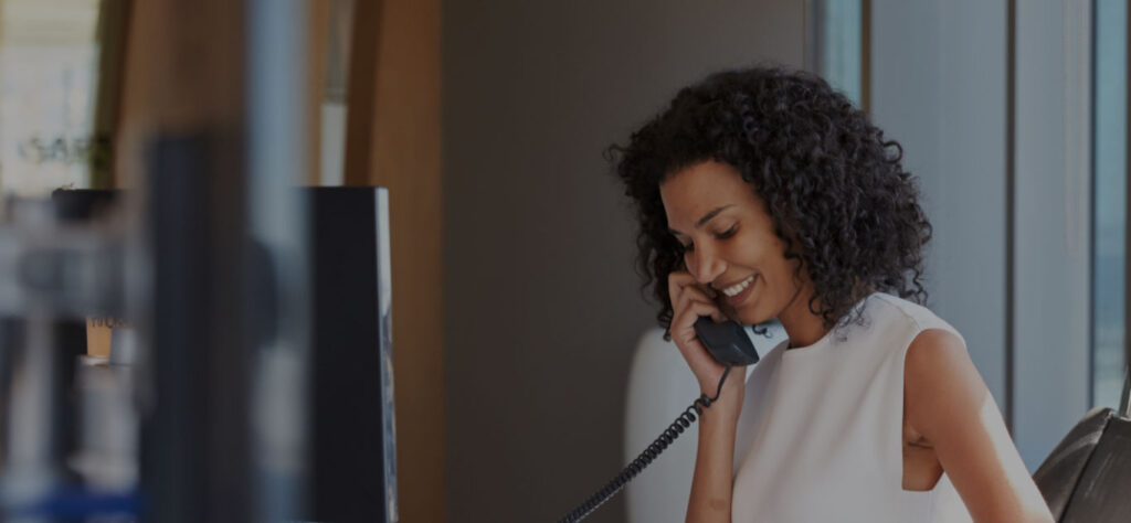
[[[659,185],[711,159],[735,167],[766,202],[785,258],[798,260],[795,274],[809,270],[809,308],[826,328],[860,323],[853,306],[871,291],[926,303],[923,247],[932,228],[900,164],[903,147],[815,75],[717,72],[606,152],[639,220],[641,290],[653,285],[667,339],[667,276],[682,267],[683,247],[668,232]]]

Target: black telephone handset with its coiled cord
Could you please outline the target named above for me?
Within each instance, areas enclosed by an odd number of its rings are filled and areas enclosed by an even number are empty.
[[[754,332],[769,339],[771,334],[766,325],[759,325]],[[559,523],[581,521],[589,513],[596,511],[597,507],[620,493],[632,478],[636,478],[661,452],[664,452],[667,445],[679,437],[680,434],[683,434],[683,430],[696,421],[697,416],[702,416],[702,409],[710,407],[715,400],[718,400],[719,393],[723,392],[723,383],[726,381],[726,376],[731,374],[731,368],[758,363],[758,351],[754,349],[753,342],[750,341],[750,337],[746,335],[745,328],[739,323],[733,321],[715,323],[710,316],[699,316],[699,320],[696,320],[694,329],[696,335],[707,351],[710,352],[711,357],[718,363],[726,365],[723,377],[718,380],[718,390],[715,391],[715,398],[709,398],[707,394],[700,395],[694,403],[691,403],[691,407],[688,407],[683,413],[675,418],[675,421],[651,445],[648,445],[648,448],[641,452],[636,460],[632,460],[632,463],[629,463],[621,473],[616,474],[612,481],[606,483],[601,490],[597,490],[585,503],[561,520],[558,520]]]

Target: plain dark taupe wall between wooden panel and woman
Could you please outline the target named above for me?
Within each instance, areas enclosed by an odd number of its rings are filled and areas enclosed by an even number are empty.
[[[800,67],[802,9],[443,5],[449,521],[555,520],[623,467],[624,382],[655,312],[602,150],[709,71]],[[623,518],[618,499],[590,521]]]

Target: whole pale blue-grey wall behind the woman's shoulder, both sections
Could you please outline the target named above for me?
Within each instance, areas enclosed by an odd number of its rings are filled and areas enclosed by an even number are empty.
[[[965,335],[1030,470],[1089,407],[1088,10],[872,2],[872,112],[923,182],[931,306]]]

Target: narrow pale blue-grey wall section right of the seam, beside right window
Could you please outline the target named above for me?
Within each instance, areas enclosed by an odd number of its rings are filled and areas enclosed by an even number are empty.
[[[1090,18],[1017,2],[1013,438],[1031,470],[1090,407]]]

